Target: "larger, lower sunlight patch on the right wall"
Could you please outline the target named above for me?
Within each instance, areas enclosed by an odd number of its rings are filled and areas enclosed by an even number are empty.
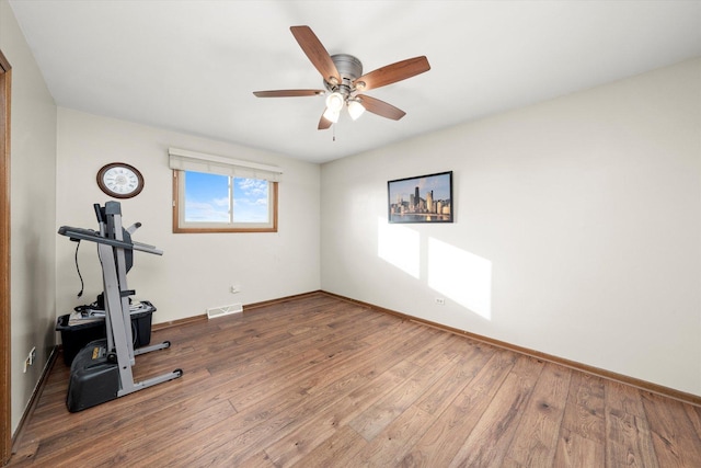
[[[491,261],[430,238],[428,286],[483,318],[492,318]]]

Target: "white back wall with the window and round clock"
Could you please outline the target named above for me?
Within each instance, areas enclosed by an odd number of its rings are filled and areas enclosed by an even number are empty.
[[[172,233],[169,147],[280,167],[278,232]],[[320,288],[318,164],[59,107],[56,229],[97,228],[92,205],[110,198],[97,187],[95,174],[115,161],[135,165],[146,180],[138,196],[122,201],[125,226],[142,222],[133,239],[164,251],[162,256],[136,252],[127,276],[135,298],[157,307],[154,323],[202,315],[209,307]],[[74,249],[68,238],[57,240],[58,315],[92,303],[102,292],[95,244],[82,242],[79,264],[85,293],[76,297],[80,281]],[[229,292],[234,284],[241,285],[240,294]]]

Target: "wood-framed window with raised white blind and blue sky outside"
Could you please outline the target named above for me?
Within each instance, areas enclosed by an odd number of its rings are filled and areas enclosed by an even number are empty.
[[[170,149],[173,232],[277,232],[275,167]]]

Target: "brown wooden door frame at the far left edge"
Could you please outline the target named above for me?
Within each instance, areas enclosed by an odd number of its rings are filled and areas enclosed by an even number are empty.
[[[0,50],[0,465],[12,455],[10,333],[10,96],[12,67]]]

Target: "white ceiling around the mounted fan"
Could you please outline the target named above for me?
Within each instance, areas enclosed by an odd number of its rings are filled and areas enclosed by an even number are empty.
[[[701,56],[697,0],[10,4],[59,106],[312,162]],[[252,93],[323,89],[292,25],[364,72],[421,55],[432,69],[367,92],[404,118],[342,115],[318,130],[322,96]]]

